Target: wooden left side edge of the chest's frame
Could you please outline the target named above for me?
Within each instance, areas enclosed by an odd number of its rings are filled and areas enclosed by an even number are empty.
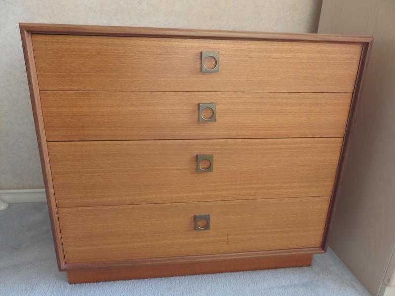
[[[48,204],[49,218],[51,221],[53,242],[55,245],[56,259],[58,269],[64,270],[65,257],[63,252],[63,244],[58,220],[58,212],[55,201],[55,193],[52,184],[52,174],[49,165],[49,155],[44,130],[44,121],[41,111],[39,82],[37,79],[36,65],[34,61],[33,44],[31,32],[20,26],[22,39],[23,55],[25,58],[26,74],[29,84],[30,99],[32,103],[33,118],[36,128],[37,143],[40,152],[41,170],[44,179],[45,193]]]

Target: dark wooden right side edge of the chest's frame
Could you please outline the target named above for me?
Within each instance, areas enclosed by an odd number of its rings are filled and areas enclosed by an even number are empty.
[[[358,66],[358,72],[356,75],[356,83],[354,86],[353,98],[351,100],[349,117],[347,119],[347,125],[346,125],[345,135],[343,138],[342,149],[340,152],[340,158],[339,158],[338,168],[337,168],[336,177],[335,177],[335,183],[333,185],[332,196],[331,196],[330,203],[329,203],[328,216],[326,219],[326,225],[325,225],[324,233],[322,236],[322,246],[323,246],[323,250],[325,252],[328,247],[327,238],[328,238],[328,233],[329,233],[330,227],[331,227],[331,220],[332,220],[333,211],[334,211],[334,207],[335,207],[335,203],[336,203],[336,198],[339,194],[339,184],[342,182],[342,179],[344,178],[342,176],[342,170],[343,170],[345,161],[347,161],[347,153],[349,152],[347,150],[347,146],[348,146],[348,143],[350,142],[350,140],[349,140],[350,135],[352,134],[353,128],[355,125],[356,106],[357,106],[358,102],[360,101],[362,88],[363,88],[363,79],[365,77],[366,69],[369,64],[370,51],[372,49],[372,45],[373,45],[373,37],[371,38],[370,41],[365,42],[363,44],[361,57],[359,60],[359,66]]]

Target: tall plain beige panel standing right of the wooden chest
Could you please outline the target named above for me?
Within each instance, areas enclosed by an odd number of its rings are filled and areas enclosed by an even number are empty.
[[[324,0],[318,32],[375,38],[329,246],[377,295],[395,266],[395,1]]]

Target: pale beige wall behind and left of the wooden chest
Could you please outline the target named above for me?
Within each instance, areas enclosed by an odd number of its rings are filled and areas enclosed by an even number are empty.
[[[43,187],[18,22],[316,33],[320,7],[321,0],[0,0],[0,189]]]

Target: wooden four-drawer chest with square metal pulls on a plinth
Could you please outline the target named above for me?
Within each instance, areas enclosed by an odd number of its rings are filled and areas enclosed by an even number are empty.
[[[70,283],[325,251],[371,37],[20,28]]]

